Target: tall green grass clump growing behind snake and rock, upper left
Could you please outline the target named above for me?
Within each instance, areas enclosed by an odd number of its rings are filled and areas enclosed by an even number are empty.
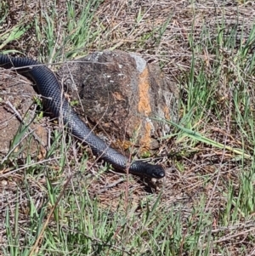
[[[59,12],[57,6],[42,10],[40,20],[45,23],[42,25],[37,17],[35,19],[37,42],[43,42],[42,47],[39,46],[41,55],[54,62],[84,54],[100,33],[99,27],[93,28],[92,21],[101,2],[90,0],[85,4],[81,0],[69,1],[64,14]]]

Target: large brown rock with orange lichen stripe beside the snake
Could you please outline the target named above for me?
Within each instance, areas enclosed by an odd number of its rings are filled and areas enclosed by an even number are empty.
[[[166,122],[155,118],[177,118],[175,84],[139,55],[96,52],[66,62],[58,75],[71,98],[82,103],[84,111],[77,107],[80,114],[105,131],[117,148],[154,150],[157,139],[170,132]]]

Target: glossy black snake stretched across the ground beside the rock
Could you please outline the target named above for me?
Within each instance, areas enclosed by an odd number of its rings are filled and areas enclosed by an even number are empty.
[[[0,54],[0,66],[5,69],[16,68],[16,71],[25,77],[30,77],[36,84],[39,94],[42,95],[43,106],[50,111],[52,116],[61,117],[64,125],[69,128],[71,134],[88,144],[95,155],[119,170],[130,174],[144,175],[150,178],[160,179],[165,176],[165,171],[160,165],[153,165],[143,161],[133,161],[118,151],[112,149],[99,139],[88,126],[82,122],[77,113],[71,108],[63,95],[63,90],[54,72],[36,60],[27,58],[14,58]]]

